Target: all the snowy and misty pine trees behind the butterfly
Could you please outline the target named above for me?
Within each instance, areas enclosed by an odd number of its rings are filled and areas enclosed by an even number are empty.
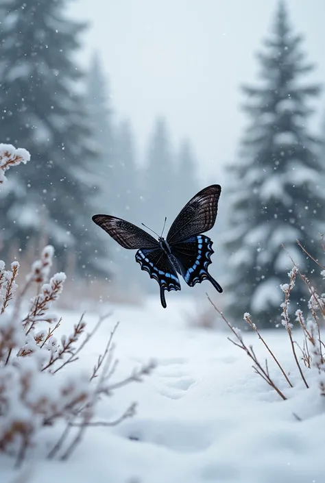
[[[99,56],[86,72],[73,61],[86,27],[65,8],[64,1],[38,0],[0,7],[1,141],[32,156],[0,193],[1,257],[46,241],[58,269],[73,267],[75,277],[154,290],[134,251],[120,250],[91,216],[114,214],[160,231],[165,216],[168,225],[203,188],[200,159],[191,140],[171,144],[168,120],[159,116],[146,151],[136,149],[132,122],[112,105]],[[258,54],[256,85],[243,86],[248,125],[224,173],[214,229],[214,267],[224,276],[228,309],[241,317],[250,308],[264,323],[276,317],[279,284],[291,265],[282,244],[310,270],[296,239],[320,258],[324,232],[324,148],[322,136],[309,131],[309,99],[322,86],[304,81],[313,65],[288,16],[280,2]],[[303,294],[296,290],[293,304]]]

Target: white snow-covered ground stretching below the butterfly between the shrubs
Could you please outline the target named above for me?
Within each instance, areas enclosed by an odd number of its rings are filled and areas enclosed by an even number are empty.
[[[310,372],[311,388],[304,388],[285,329],[266,335],[295,383],[289,389],[269,361],[274,380],[288,397],[282,401],[254,373],[245,353],[227,340],[228,332],[189,327],[185,314],[193,310],[191,301],[171,297],[167,310],[158,297],[143,308],[115,308],[80,362],[85,369],[93,367],[120,321],[116,377],[150,358],[158,366],[142,383],[104,399],[97,420],[118,417],[132,401],[139,403],[136,416],[115,428],[88,428],[68,462],[39,459],[38,449],[38,456],[25,463],[27,480],[15,480],[22,470],[14,471],[13,461],[2,456],[1,483],[324,482],[325,401]],[[69,327],[80,317],[77,312],[63,315],[63,325]],[[88,314],[86,320],[93,325],[97,315]],[[256,336],[247,334],[245,341],[254,344],[263,360],[265,351]],[[44,445],[49,438],[56,441],[59,429],[44,435]]]

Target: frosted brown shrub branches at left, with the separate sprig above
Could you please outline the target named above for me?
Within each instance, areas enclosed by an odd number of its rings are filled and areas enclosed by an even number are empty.
[[[5,179],[5,170],[27,160],[29,153],[24,149],[0,145],[0,182]],[[150,362],[124,380],[110,382],[117,367],[112,357],[115,325],[94,367],[88,371],[69,369],[106,317],[99,318],[86,334],[82,316],[70,334],[58,336],[61,319],[51,309],[62,293],[66,275],[49,277],[53,254],[53,247],[43,249],[21,290],[16,284],[19,262],[12,262],[6,269],[0,261],[0,452],[16,457],[17,463],[40,441],[44,428],[60,421],[65,423],[65,430],[49,451],[49,458],[58,451],[62,459],[68,458],[89,425],[115,425],[132,416],[134,403],[117,421],[93,422],[99,398],[140,381],[154,367]],[[33,287],[36,295],[28,300],[27,293]],[[71,428],[75,428],[73,436]]]

